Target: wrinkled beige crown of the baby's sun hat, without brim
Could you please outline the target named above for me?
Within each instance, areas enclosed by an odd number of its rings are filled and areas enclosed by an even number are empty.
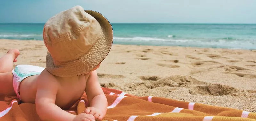
[[[75,6],[45,23],[43,39],[54,62],[68,62],[88,53],[101,32],[99,22],[81,6]]]

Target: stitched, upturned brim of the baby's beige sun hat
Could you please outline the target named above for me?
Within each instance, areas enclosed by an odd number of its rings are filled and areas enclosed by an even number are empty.
[[[79,59],[71,62],[63,63],[61,66],[56,66],[49,52],[46,55],[47,70],[59,77],[72,77],[82,75],[91,71],[108,55],[113,43],[113,30],[109,21],[100,13],[92,10],[85,10],[86,13],[93,16],[99,23],[102,29],[99,39],[90,49],[90,51]]]

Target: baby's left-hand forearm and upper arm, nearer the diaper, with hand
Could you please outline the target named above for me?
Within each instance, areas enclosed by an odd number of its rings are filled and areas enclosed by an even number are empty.
[[[44,70],[37,80],[37,92],[36,92],[36,112],[41,120],[53,120],[53,121],[72,121],[76,115],[70,114],[60,107],[55,105],[56,94],[58,91],[58,83],[55,78],[49,74],[47,70]],[[82,114],[84,115],[84,114]],[[79,118],[79,116],[78,116]],[[87,114],[86,116],[80,116],[89,120],[94,120]],[[76,118],[77,119],[77,118]],[[79,119],[78,119],[79,120]]]

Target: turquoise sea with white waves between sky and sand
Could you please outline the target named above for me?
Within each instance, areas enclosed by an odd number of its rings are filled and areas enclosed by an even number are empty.
[[[44,24],[0,24],[0,39],[42,40]],[[112,24],[114,44],[256,49],[256,24]]]

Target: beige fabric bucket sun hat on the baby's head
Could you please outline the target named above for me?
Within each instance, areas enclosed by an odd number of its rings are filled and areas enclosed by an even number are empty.
[[[82,75],[107,56],[113,30],[98,12],[75,6],[50,18],[43,29],[46,69],[55,76]]]

